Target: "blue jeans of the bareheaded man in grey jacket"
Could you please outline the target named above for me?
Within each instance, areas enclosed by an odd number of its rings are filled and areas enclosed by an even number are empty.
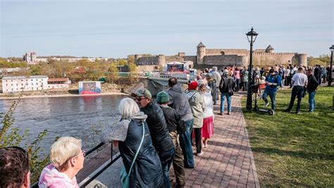
[[[185,168],[194,168],[194,154],[192,153],[192,127],[194,119],[185,121],[185,133],[180,134],[180,146],[185,160]]]

